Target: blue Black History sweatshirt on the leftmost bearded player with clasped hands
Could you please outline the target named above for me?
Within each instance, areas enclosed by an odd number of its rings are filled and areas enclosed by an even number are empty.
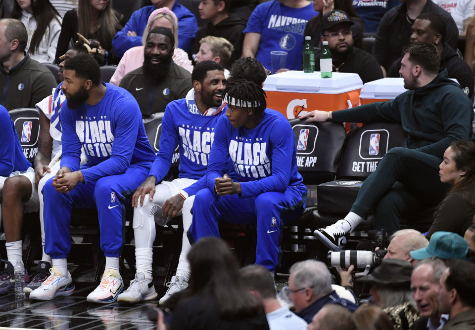
[[[130,164],[153,162],[155,153],[145,134],[142,113],[125,89],[106,83],[96,105],[83,103],[69,109],[64,101],[59,118],[62,126],[61,167],[79,169],[81,146],[88,163],[81,167],[86,182],[122,174]]]

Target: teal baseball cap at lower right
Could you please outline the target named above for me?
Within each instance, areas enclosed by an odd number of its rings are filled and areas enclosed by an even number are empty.
[[[443,260],[463,259],[468,260],[474,255],[469,244],[462,236],[449,232],[435,232],[430,238],[429,245],[411,251],[411,256],[415,260],[437,257]]]

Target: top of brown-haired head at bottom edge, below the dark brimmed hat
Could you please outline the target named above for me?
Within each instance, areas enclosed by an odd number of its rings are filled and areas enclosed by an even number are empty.
[[[380,307],[363,304],[353,313],[358,330],[393,330],[389,316]]]

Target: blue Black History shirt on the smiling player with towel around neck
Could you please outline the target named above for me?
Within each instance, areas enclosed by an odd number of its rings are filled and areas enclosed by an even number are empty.
[[[226,109],[223,103],[215,115],[203,116],[194,102],[187,104],[186,98],[168,103],[162,120],[160,149],[149,173],[155,176],[156,184],[167,174],[177,145],[180,150],[179,177],[198,180],[204,176],[215,126],[219,118],[226,120]]]

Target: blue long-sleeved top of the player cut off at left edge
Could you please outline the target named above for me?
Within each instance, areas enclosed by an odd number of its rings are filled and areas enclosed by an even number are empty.
[[[28,122],[25,124],[28,125]],[[2,105],[0,105],[0,141],[0,176],[10,176],[14,171],[23,172],[31,166],[23,155],[15,125]]]

